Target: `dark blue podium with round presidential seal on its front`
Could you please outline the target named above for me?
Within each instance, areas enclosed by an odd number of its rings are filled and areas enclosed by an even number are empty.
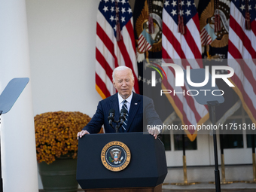
[[[163,143],[149,134],[90,134],[78,141],[77,181],[86,192],[158,192],[166,175]]]

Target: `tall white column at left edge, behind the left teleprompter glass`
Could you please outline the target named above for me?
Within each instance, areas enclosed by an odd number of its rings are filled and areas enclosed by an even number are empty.
[[[0,2],[0,92],[12,78],[30,78],[25,0]],[[38,192],[32,81],[2,114],[2,178],[5,192]]]

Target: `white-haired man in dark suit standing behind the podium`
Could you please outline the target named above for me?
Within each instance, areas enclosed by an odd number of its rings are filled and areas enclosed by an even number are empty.
[[[114,69],[112,77],[114,88],[117,89],[118,93],[99,102],[96,114],[93,115],[87,126],[84,126],[83,130],[78,133],[78,138],[85,134],[99,133],[103,124],[105,133],[114,133],[115,130],[108,123],[109,110],[114,109],[114,119],[118,120],[121,108],[125,108],[128,114],[118,132],[142,132],[143,125],[149,125],[154,126],[154,129],[148,129],[148,133],[157,139],[160,131],[155,128],[157,125],[162,125],[162,121],[154,110],[153,100],[133,92],[132,70],[126,66],[117,67]]]

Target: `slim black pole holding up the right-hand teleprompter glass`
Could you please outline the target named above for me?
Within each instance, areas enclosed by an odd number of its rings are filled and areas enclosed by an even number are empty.
[[[215,125],[215,123],[216,123],[215,107],[216,107],[216,105],[218,105],[218,101],[207,102],[207,105],[209,106],[209,109],[211,111],[212,125]],[[217,137],[216,137],[215,129],[213,129],[213,145],[214,145],[214,152],[215,152],[215,191],[221,192],[220,172],[218,170]]]

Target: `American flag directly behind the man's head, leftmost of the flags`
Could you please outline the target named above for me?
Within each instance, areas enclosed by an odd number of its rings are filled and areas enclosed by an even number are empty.
[[[120,41],[117,41],[118,26]],[[133,70],[134,91],[139,93],[133,12],[129,1],[102,0],[96,23],[96,90],[103,99],[116,93],[112,72],[117,66]]]

